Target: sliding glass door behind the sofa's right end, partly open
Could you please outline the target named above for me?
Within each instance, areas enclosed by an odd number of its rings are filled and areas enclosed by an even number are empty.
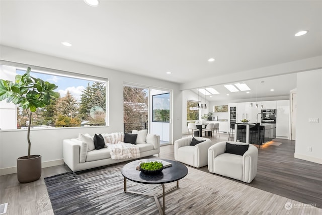
[[[172,141],[171,92],[124,85],[124,132],[147,129],[160,136],[160,144]]]

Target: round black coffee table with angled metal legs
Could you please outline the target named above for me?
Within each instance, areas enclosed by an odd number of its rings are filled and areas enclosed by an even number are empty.
[[[166,167],[161,173],[157,175],[147,175],[136,170],[136,167],[139,166],[140,161],[150,162],[150,161],[157,161],[157,160],[167,161],[167,162],[170,162],[172,165],[170,167]],[[165,214],[165,194],[179,187],[179,180],[184,178],[188,174],[188,168],[182,163],[179,163],[177,161],[167,160],[167,159],[140,159],[124,165],[121,172],[122,172],[122,175],[124,176],[125,193],[128,192],[128,193],[135,193],[135,194],[154,197],[156,206],[160,214]],[[135,191],[127,191],[126,179],[137,183],[142,183],[142,184],[160,184],[162,186],[163,192],[162,194],[154,195],[154,194],[141,193],[141,192],[135,192]],[[177,181],[177,185],[165,192],[165,184],[170,182],[175,182],[175,181]],[[161,207],[160,202],[158,201],[158,198],[161,196],[163,197],[163,208]]]

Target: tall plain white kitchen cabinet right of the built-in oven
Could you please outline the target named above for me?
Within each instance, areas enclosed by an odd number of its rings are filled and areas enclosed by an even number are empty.
[[[277,101],[276,136],[288,138],[289,131],[289,100]]]

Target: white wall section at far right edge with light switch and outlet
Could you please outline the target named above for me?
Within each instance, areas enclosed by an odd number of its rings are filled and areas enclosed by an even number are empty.
[[[318,118],[310,123],[309,118]],[[322,164],[322,69],[297,74],[295,158]],[[312,152],[307,150],[311,147]]]

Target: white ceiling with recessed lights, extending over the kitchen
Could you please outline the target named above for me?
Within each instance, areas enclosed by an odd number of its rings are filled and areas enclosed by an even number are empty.
[[[179,84],[322,55],[321,1],[100,1],[1,0],[0,44]],[[296,87],[294,74],[245,83],[261,81],[273,96]]]

